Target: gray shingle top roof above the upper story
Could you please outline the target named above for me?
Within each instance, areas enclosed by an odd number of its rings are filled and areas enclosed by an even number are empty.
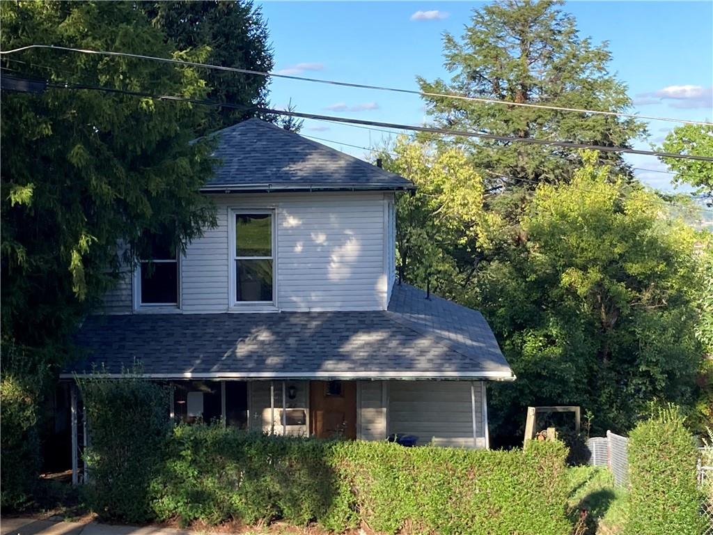
[[[203,190],[404,190],[406,178],[260,119],[224,128]]]

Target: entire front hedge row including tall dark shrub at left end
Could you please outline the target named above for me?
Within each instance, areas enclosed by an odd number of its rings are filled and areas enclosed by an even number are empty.
[[[158,413],[137,407],[153,403],[148,390],[154,387],[108,385],[83,387],[93,406],[93,483],[86,491],[104,518],[182,524],[284,519],[334,531],[366,524],[390,534],[565,535],[571,529],[567,449],[559,443],[485,452],[270,437],[220,425],[162,434],[163,423],[150,418]],[[129,395],[133,389],[143,393]],[[124,403],[133,409],[126,412]],[[107,421],[92,419],[100,416]]]

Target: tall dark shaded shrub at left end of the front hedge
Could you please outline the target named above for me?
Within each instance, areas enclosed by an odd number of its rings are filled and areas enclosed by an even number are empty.
[[[90,447],[89,506],[103,519],[153,518],[150,481],[158,474],[170,420],[168,389],[137,377],[80,379]]]

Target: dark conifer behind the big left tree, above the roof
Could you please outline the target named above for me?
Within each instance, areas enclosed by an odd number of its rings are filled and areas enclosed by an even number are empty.
[[[202,63],[250,71],[272,71],[274,61],[267,23],[259,7],[248,0],[151,1],[140,8],[165,39]],[[245,106],[213,108],[200,133],[219,130],[255,116],[255,106],[267,103],[269,78],[215,69],[200,69],[211,101]],[[270,118],[273,122],[277,118]]]

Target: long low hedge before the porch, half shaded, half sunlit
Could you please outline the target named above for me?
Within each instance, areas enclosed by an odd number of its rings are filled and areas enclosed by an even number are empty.
[[[160,520],[284,519],[343,531],[567,534],[566,449],[404,448],[178,427],[152,485]]]

